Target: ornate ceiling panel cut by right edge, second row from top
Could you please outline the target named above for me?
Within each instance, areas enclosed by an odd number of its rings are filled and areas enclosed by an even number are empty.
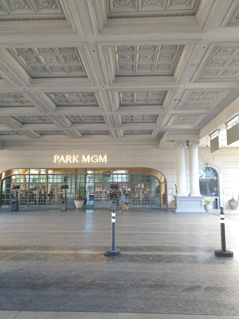
[[[238,78],[239,47],[215,47],[200,78]]]

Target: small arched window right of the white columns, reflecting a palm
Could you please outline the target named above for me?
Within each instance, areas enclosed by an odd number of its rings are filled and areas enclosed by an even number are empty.
[[[218,196],[217,173],[210,167],[199,172],[199,188],[202,196]]]

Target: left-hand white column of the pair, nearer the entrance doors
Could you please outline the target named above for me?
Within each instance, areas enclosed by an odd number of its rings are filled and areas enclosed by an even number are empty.
[[[186,141],[175,141],[176,147],[176,171],[177,171],[177,196],[186,196],[186,170],[185,152]]]

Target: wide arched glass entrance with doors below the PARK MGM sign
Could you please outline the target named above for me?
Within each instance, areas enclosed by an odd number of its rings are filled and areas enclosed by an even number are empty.
[[[1,207],[10,207],[12,185],[20,186],[19,207],[58,207],[63,184],[69,185],[66,193],[68,205],[74,205],[75,198],[80,195],[85,198],[85,207],[109,207],[110,185],[118,184],[117,204],[120,206],[167,207],[166,180],[163,174],[153,169],[86,169],[84,174],[77,174],[78,169],[70,172],[66,169],[65,174],[52,169],[24,170],[28,174],[22,174],[21,169],[12,169],[13,174],[1,181]],[[43,171],[48,174],[42,174]]]

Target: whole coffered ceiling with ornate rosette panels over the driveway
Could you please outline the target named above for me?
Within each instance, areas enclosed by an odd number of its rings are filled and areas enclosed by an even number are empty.
[[[238,34],[238,0],[0,0],[2,148],[163,148],[224,130]]]

